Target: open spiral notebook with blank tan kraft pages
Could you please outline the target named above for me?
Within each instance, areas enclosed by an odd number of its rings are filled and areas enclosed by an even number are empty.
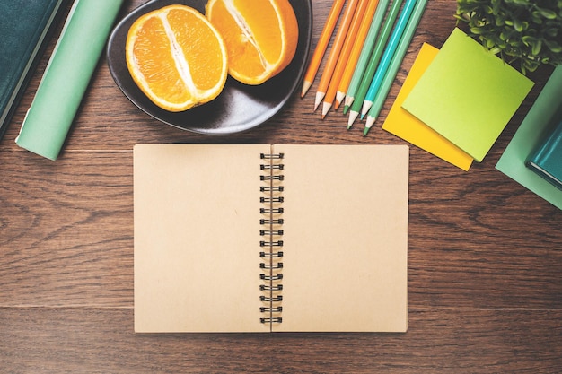
[[[136,332],[404,332],[408,146],[137,144]]]

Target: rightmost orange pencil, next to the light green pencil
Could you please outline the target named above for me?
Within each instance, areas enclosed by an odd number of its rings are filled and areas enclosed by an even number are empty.
[[[361,23],[361,26],[359,27],[359,30],[357,31],[356,42],[351,49],[344,73],[339,80],[338,92],[336,92],[336,104],[334,106],[335,109],[339,108],[339,105],[346,97],[347,88],[349,87],[349,83],[351,83],[351,78],[353,77],[353,74],[356,70],[356,65],[359,61],[359,57],[361,56],[364,42],[367,39],[369,30],[371,29],[371,24],[373,22],[374,13],[376,12],[378,3],[378,0],[369,3],[369,6],[364,13],[364,19]]]

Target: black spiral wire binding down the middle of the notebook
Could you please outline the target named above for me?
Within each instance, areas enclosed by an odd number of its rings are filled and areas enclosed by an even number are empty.
[[[259,274],[259,279],[262,283],[259,285],[259,291],[262,294],[259,296],[259,301],[263,305],[259,308],[259,312],[263,317],[259,318],[262,324],[278,324],[283,322],[281,312],[283,307],[281,301],[283,300],[283,251],[277,248],[283,247],[283,229],[281,226],[284,223],[281,215],[284,213],[283,207],[279,206],[283,203],[284,197],[282,193],[284,186],[281,184],[284,180],[282,170],[285,165],[283,164],[283,153],[261,153],[260,159],[264,162],[259,166],[260,170],[268,172],[267,175],[259,177],[264,184],[259,187],[259,191],[263,196],[259,197],[259,202],[265,204],[265,207],[259,209],[262,218],[259,224],[263,226],[259,230],[259,235],[263,239],[259,240],[259,247],[263,248],[259,252],[259,257],[262,262],[259,268],[262,271]]]

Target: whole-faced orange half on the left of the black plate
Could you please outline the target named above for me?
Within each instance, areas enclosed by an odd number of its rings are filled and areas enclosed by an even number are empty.
[[[127,34],[126,59],[140,90],[170,111],[215,99],[228,74],[221,35],[203,14],[185,5],[139,17]]]

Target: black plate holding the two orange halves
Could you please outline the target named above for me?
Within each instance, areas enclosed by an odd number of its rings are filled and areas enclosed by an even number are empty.
[[[250,86],[230,76],[215,99],[183,112],[170,112],[154,105],[138,89],[127,70],[127,32],[141,15],[169,4],[185,4],[205,13],[207,0],[152,0],[129,13],[111,32],[108,41],[110,72],[125,96],[139,109],[171,126],[200,134],[233,134],[259,126],[283,108],[301,83],[312,36],[311,0],[289,0],[299,25],[299,41],[294,59],[285,70],[266,83]]]

